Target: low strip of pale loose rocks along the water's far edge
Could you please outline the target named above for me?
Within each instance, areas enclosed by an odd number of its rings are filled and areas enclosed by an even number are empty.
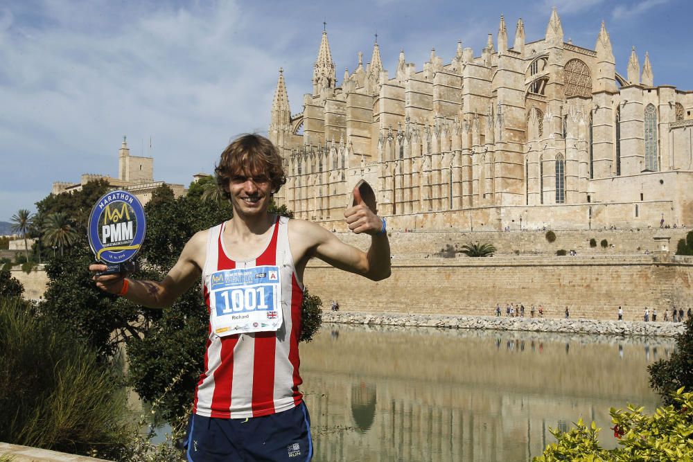
[[[373,326],[435,327],[453,329],[524,330],[595,335],[642,335],[675,337],[684,323],[642,321],[595,321],[593,319],[509,318],[446,316],[443,314],[373,314],[358,312],[322,313],[324,323],[367,324]]]

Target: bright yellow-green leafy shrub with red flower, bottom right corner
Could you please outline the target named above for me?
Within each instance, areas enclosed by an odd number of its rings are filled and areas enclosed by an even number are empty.
[[[691,461],[693,460],[693,393],[676,391],[671,399],[676,407],[658,408],[651,416],[642,407],[629,405],[625,411],[611,408],[613,435],[619,446],[604,450],[599,446],[599,429],[593,422],[587,427],[578,420],[576,427],[562,433],[550,429],[556,443],[546,447],[533,462],[554,461]],[[678,411],[676,409],[681,409]]]

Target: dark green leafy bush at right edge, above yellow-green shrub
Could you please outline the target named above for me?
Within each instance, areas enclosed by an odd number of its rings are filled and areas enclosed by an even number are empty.
[[[677,389],[693,389],[693,318],[685,325],[686,330],[676,336],[676,348],[669,359],[659,359],[647,366],[650,387],[667,405],[676,405],[672,393]]]

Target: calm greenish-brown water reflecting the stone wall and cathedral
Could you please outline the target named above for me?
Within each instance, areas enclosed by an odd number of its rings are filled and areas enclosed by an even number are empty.
[[[301,345],[315,461],[527,461],[549,428],[609,407],[652,411],[647,364],[660,338],[326,324]]]

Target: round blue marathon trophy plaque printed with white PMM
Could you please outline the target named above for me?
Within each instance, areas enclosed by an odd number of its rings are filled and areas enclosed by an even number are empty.
[[[98,263],[108,267],[100,274],[134,271],[132,258],[146,228],[144,208],[132,193],[116,190],[98,199],[89,215],[89,247]]]

